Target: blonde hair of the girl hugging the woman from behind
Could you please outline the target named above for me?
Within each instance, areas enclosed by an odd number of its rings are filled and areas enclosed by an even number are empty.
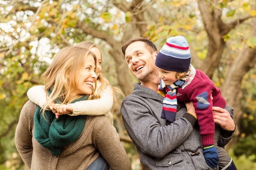
[[[79,46],[81,48],[88,49],[88,50],[91,50],[93,47],[99,49],[99,51],[101,53],[101,62],[103,62],[102,51],[96,44],[94,44],[92,42],[84,41],[84,42],[80,42],[80,43],[76,44],[75,46]],[[99,88],[98,88],[99,93],[109,86],[112,89],[114,102],[116,102],[116,100],[117,100],[116,99],[117,93],[121,94],[124,97],[124,93],[119,88],[116,88],[115,86],[111,86],[110,83],[108,82],[108,80],[104,77],[104,75],[102,73],[99,74],[97,80],[99,80],[99,82],[101,82],[101,86],[99,86]],[[112,106],[111,112],[112,113],[114,112],[114,105]]]

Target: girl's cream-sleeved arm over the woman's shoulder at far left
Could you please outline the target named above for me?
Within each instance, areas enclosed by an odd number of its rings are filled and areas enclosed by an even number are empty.
[[[29,97],[29,100],[33,103],[43,108],[43,105],[46,103],[45,86],[38,85],[29,88],[27,91],[27,97]]]

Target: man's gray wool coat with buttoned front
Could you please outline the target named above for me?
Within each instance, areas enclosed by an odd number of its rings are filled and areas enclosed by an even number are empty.
[[[141,155],[141,163],[150,170],[213,170],[204,159],[196,119],[186,113],[186,108],[180,108],[175,122],[166,126],[166,119],[161,118],[163,99],[152,89],[135,84],[121,104],[124,126]],[[226,109],[232,112],[231,107]],[[219,146],[232,136],[221,136]]]

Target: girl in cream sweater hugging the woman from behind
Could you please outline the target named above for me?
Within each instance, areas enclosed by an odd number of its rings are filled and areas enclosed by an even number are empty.
[[[95,93],[100,95],[99,99],[86,100],[81,102],[76,102],[73,104],[59,105],[59,104],[49,104],[48,107],[52,106],[52,111],[58,117],[62,114],[69,114],[71,116],[76,115],[106,115],[108,120],[113,125],[113,102],[116,100],[115,94],[123,93],[111,86],[108,80],[101,73],[102,64],[102,53],[99,47],[92,42],[80,42],[75,46],[79,46],[84,49],[91,50],[97,57],[97,87]],[[46,103],[45,87],[44,86],[34,86],[27,92],[29,99],[43,106]]]

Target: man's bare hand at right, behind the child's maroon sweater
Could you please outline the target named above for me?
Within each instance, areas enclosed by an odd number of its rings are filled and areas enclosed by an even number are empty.
[[[236,128],[235,122],[227,110],[216,106],[213,106],[212,110],[214,122],[219,124],[223,130],[234,130]]]

